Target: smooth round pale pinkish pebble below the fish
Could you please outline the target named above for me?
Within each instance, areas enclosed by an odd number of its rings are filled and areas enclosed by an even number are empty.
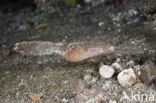
[[[115,73],[115,70],[111,66],[103,65],[100,67],[99,73],[104,78],[111,78]]]

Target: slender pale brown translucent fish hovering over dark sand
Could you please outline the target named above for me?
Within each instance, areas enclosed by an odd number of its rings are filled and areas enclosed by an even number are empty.
[[[84,42],[52,43],[48,41],[16,43],[14,50],[26,56],[44,56],[57,53],[70,62],[82,61],[101,54],[120,52],[120,49],[105,44]]]

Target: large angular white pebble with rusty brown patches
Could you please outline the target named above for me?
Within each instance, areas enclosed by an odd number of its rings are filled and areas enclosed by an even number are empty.
[[[117,79],[121,86],[124,88],[129,88],[136,82],[136,75],[132,68],[123,70],[117,76]]]

